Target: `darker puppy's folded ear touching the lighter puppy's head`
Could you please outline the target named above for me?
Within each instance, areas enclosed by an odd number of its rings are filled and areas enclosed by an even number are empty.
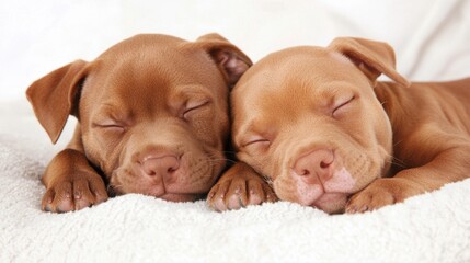
[[[203,35],[194,44],[210,55],[230,88],[253,65],[247,55],[219,34]]]

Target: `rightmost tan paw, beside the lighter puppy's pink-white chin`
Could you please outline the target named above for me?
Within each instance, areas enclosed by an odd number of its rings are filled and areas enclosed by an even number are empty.
[[[413,183],[404,179],[377,179],[349,198],[345,211],[355,214],[376,210],[387,205],[401,203],[421,192]]]

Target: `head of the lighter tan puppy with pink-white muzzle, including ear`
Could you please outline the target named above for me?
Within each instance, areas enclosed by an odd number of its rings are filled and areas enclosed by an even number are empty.
[[[231,94],[238,157],[279,198],[341,211],[390,167],[391,126],[374,87],[380,73],[408,85],[393,57],[385,43],[339,38],[263,58]]]

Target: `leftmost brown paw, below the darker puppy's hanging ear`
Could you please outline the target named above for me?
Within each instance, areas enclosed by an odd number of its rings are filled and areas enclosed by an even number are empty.
[[[81,172],[51,182],[43,196],[42,209],[54,213],[80,210],[106,199],[107,193],[101,176]]]

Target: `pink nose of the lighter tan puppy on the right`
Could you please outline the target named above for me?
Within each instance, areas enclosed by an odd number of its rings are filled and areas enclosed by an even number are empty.
[[[294,172],[299,176],[319,176],[329,179],[332,176],[332,163],[334,153],[332,150],[320,149],[313,150],[301,156],[294,164]]]

